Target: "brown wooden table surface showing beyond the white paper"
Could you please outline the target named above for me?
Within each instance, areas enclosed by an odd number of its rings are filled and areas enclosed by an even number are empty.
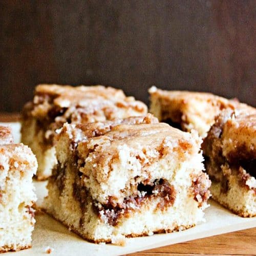
[[[18,120],[18,113],[0,113],[0,122]],[[145,250],[130,255],[256,255],[256,227]]]

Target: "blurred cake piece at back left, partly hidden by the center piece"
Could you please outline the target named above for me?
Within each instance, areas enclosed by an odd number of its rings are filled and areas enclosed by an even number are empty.
[[[21,131],[22,142],[37,157],[37,179],[44,180],[51,175],[56,164],[55,130],[64,123],[89,123],[146,113],[144,103],[111,87],[40,84],[33,101],[24,107]]]

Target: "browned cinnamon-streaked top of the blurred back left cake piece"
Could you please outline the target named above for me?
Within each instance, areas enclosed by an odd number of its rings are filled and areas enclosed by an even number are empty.
[[[146,113],[143,102],[111,87],[40,84],[33,101],[24,107],[23,119],[35,118],[38,132],[45,131],[44,143],[52,145],[55,130],[63,123],[90,123]]]

